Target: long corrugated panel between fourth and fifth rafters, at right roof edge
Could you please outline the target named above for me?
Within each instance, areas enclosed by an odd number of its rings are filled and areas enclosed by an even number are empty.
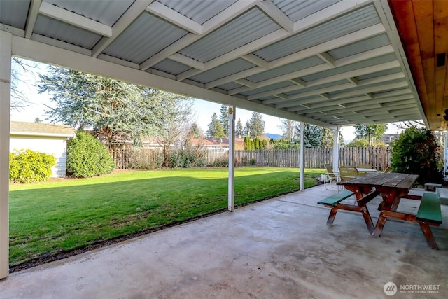
[[[258,51],[255,55],[271,62],[280,57],[296,53],[297,51],[316,46],[331,39],[356,32],[380,22],[373,6],[366,6],[357,11],[343,15],[340,18],[325,22],[322,25],[295,34],[279,43],[274,43]]]

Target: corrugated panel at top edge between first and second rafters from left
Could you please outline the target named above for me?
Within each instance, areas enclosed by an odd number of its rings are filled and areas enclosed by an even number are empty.
[[[115,24],[118,18],[120,18],[127,8],[134,2],[134,0],[44,1],[108,26]]]

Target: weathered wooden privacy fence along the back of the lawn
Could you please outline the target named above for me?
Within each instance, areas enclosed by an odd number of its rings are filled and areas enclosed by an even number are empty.
[[[162,161],[160,148],[136,150],[130,146],[111,147],[111,156],[118,169],[158,168]],[[204,167],[222,166],[228,161],[228,149],[203,148]],[[332,164],[332,148],[305,148],[304,167],[325,168]],[[339,165],[370,164],[374,169],[384,170],[391,165],[391,149],[388,147],[340,148]],[[267,149],[235,151],[235,165],[258,165],[273,167],[300,167],[300,149]],[[144,166],[144,167],[143,167]]]

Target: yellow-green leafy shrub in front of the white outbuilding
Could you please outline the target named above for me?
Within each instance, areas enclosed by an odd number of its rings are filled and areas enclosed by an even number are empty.
[[[9,154],[9,180],[15,183],[48,181],[56,158],[46,153],[17,151]]]

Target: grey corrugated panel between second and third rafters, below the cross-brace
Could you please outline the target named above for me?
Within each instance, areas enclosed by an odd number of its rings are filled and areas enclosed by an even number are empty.
[[[154,15],[144,13],[104,53],[141,64],[187,33]]]

